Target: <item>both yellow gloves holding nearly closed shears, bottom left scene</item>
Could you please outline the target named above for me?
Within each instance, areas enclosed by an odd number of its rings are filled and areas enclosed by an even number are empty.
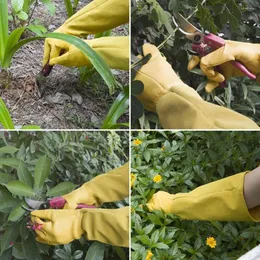
[[[67,244],[82,235],[88,240],[129,247],[129,208],[76,209],[80,203],[99,207],[129,196],[129,164],[101,174],[63,196],[62,210],[36,210],[31,221],[38,224],[36,240],[50,245]]]

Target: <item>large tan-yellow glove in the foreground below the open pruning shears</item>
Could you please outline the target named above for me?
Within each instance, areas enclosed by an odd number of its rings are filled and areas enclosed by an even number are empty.
[[[249,118],[204,101],[181,81],[154,45],[144,44],[143,53],[151,53],[152,58],[136,74],[135,80],[144,83],[137,97],[147,110],[157,112],[163,128],[259,129]]]

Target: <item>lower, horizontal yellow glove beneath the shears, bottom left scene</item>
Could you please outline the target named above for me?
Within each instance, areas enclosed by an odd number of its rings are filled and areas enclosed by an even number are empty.
[[[36,240],[49,245],[68,244],[83,234],[87,240],[97,240],[115,246],[129,247],[129,208],[36,210],[31,213]]]

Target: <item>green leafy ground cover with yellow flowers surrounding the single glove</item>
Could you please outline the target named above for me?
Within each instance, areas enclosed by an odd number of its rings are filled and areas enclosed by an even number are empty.
[[[235,260],[257,246],[258,223],[185,221],[140,205],[157,191],[189,192],[256,168],[259,138],[258,132],[133,132],[132,260]]]

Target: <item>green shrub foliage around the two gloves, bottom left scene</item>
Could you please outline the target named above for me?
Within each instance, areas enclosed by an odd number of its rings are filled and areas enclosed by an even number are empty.
[[[25,197],[46,200],[79,187],[98,174],[128,161],[124,132],[1,132],[0,137],[0,259],[114,259],[128,250],[80,240],[48,246],[27,229]],[[117,208],[128,201],[106,203]],[[95,223],[96,225],[98,223]],[[96,258],[94,257],[96,255]]]

